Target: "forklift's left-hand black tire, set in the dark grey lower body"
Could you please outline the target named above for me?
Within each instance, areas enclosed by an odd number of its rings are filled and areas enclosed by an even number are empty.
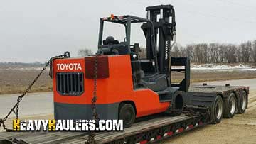
[[[135,121],[135,110],[132,104],[121,104],[119,109],[119,119],[123,120],[124,128],[129,128]]]

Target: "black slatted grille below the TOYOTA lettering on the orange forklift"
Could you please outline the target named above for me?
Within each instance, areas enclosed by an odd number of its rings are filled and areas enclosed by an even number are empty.
[[[83,79],[82,72],[58,72],[57,92],[61,95],[80,96],[84,92]]]

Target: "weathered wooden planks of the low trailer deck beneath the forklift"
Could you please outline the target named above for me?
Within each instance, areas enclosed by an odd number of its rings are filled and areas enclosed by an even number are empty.
[[[110,143],[116,139],[127,138],[132,135],[143,133],[154,128],[161,128],[172,123],[191,120],[191,117],[181,115],[175,117],[160,116],[134,123],[131,128],[126,128],[122,132],[99,132],[95,136],[97,143]],[[11,143],[8,140],[14,140],[16,143],[85,143],[88,138],[87,132],[1,132],[0,143]]]

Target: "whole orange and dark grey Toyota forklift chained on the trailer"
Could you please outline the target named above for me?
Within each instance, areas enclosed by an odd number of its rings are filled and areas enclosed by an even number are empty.
[[[100,18],[96,85],[96,55],[53,60],[55,119],[92,119],[95,87],[97,116],[121,119],[126,128],[132,126],[136,118],[155,113],[181,115],[185,102],[192,101],[186,96],[190,61],[187,57],[171,57],[176,35],[174,7],[149,6],[146,12],[147,18],[130,15]],[[104,23],[124,26],[124,41],[112,36],[103,39]],[[134,23],[142,24],[145,58],[140,56],[139,43],[131,43]],[[172,66],[181,68],[172,69]],[[183,72],[184,79],[172,83],[171,72]]]

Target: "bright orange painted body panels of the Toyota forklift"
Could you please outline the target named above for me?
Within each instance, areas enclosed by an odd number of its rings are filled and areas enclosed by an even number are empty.
[[[129,55],[108,56],[109,77],[97,79],[97,103],[113,104],[122,101],[133,101],[137,117],[147,116],[166,111],[169,102],[160,103],[159,96],[151,89],[133,89],[132,67]],[[79,63],[80,70],[58,70],[58,64]],[[56,72],[84,72],[85,58],[57,59],[53,61],[53,92],[54,101],[64,104],[91,104],[93,79],[86,79],[84,74],[85,92],[81,96],[61,96],[56,91]]]

